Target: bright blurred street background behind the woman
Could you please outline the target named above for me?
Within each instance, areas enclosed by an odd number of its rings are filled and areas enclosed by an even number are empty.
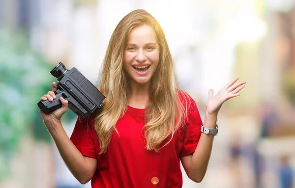
[[[182,88],[204,120],[208,89],[235,77],[202,183],[183,188],[295,188],[295,0],[0,0],[0,188],[90,188],[67,170],[37,102],[60,61],[95,83],[120,19],[161,24]],[[68,110],[71,134],[77,116]]]

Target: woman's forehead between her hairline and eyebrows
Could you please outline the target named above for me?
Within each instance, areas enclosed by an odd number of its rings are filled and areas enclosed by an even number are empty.
[[[156,33],[150,26],[139,26],[131,30],[128,38],[128,43],[156,43]]]

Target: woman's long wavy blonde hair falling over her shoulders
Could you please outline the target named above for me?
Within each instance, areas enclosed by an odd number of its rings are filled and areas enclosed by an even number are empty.
[[[151,78],[149,104],[145,110],[144,133],[146,149],[158,152],[160,145],[167,145],[175,131],[183,125],[187,118],[189,100],[180,90],[174,71],[172,55],[157,20],[146,10],[138,9],[127,14],[115,28],[104,57],[101,69],[99,89],[106,96],[104,106],[95,118],[95,130],[100,143],[100,154],[107,151],[112,134],[117,131],[116,124],[128,106],[128,79],[123,69],[123,58],[131,30],[148,25],[156,33],[160,47],[159,64]],[[184,105],[183,105],[184,104]]]

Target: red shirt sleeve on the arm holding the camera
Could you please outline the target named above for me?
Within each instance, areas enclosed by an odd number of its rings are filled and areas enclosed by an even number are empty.
[[[88,118],[78,117],[70,139],[82,155],[96,159],[94,135],[96,132],[91,116]]]

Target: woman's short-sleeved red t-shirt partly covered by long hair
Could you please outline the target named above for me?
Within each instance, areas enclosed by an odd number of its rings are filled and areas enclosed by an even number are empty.
[[[97,159],[92,188],[181,188],[180,158],[194,153],[201,136],[202,120],[193,99],[185,125],[158,153],[145,149],[145,109],[127,107],[116,125],[107,153],[99,155],[93,117],[78,118],[72,142],[87,157]]]

